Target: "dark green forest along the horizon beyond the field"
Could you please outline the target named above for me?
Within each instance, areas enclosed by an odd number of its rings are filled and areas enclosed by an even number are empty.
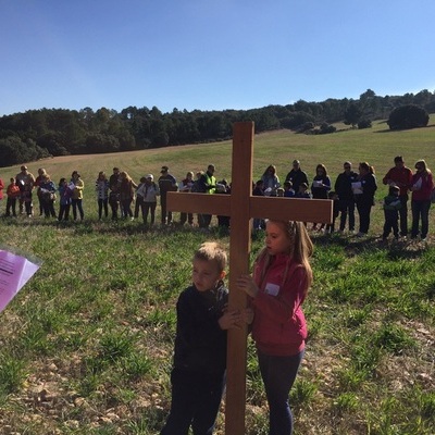
[[[251,110],[200,111],[174,109],[162,113],[128,107],[121,112],[105,108],[94,111],[40,109],[0,117],[0,166],[35,161],[50,156],[130,151],[186,144],[207,144],[232,137],[233,123],[253,121],[256,133],[279,128],[323,134],[334,133],[333,123],[359,128],[388,119],[393,110],[415,104],[435,112],[435,92],[380,97],[371,89],[358,100],[299,100],[294,104]]]

